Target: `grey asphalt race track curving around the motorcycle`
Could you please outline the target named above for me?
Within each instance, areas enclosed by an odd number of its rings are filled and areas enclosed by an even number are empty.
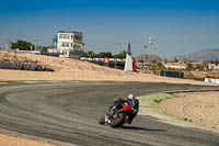
[[[219,135],[138,116],[111,128],[99,119],[116,97],[212,89],[173,83],[72,81],[0,86],[0,128],[87,146],[219,146]]]

